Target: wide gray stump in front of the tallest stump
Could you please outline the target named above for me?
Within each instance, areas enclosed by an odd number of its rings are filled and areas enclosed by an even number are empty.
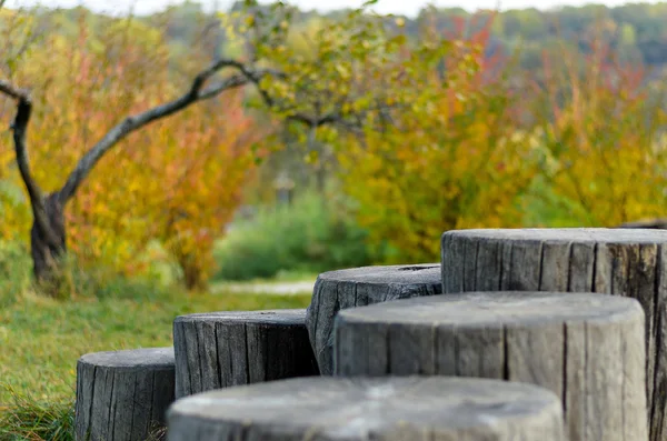
[[[337,375],[457,375],[561,398],[570,441],[646,441],[644,312],[600,294],[472,292],[341,311]]]

